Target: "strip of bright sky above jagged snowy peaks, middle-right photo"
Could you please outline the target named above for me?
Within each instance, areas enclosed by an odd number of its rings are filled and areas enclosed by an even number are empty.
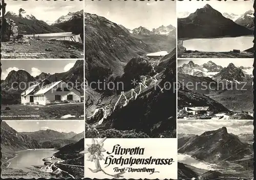
[[[244,66],[244,67],[252,67],[253,59],[193,59],[193,60],[180,60],[178,59],[178,67],[182,66],[184,63],[187,64],[189,61],[193,61],[195,64],[202,65],[207,63],[208,61],[212,61],[217,65],[222,67],[227,67],[229,63],[233,63],[235,66]]]

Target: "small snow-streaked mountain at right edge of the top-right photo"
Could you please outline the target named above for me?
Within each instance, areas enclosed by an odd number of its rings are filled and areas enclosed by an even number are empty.
[[[254,15],[253,15],[253,13],[254,13],[253,10],[249,10],[249,11],[245,12],[244,14],[242,14],[234,22],[253,31],[254,30],[254,23],[253,23]]]

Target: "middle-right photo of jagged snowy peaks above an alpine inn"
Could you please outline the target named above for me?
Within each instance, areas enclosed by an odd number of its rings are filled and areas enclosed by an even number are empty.
[[[178,59],[178,119],[253,119],[253,59]]]

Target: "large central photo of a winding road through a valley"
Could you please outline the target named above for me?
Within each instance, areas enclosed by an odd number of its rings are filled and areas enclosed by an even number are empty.
[[[87,138],[176,138],[176,1],[85,2]]]

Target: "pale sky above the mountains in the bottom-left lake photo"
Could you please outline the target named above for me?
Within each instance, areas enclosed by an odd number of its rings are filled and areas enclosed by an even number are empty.
[[[84,121],[6,121],[6,123],[17,132],[54,130],[60,133],[74,132],[78,134],[84,131]]]

